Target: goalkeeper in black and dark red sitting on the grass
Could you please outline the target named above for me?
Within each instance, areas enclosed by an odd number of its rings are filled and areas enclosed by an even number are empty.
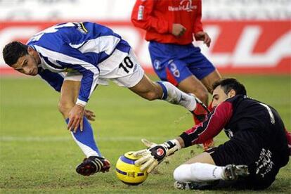
[[[205,122],[160,145],[143,139],[149,148],[134,153],[142,156],[136,165],[151,172],[165,157],[202,143],[224,129],[230,140],[177,167],[174,186],[179,189],[268,188],[289,160],[290,133],[285,130],[278,112],[248,98],[245,86],[236,79],[221,79],[213,86],[215,108]]]

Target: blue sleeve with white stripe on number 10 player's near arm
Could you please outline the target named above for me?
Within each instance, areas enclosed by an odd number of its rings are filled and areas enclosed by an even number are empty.
[[[62,54],[59,57],[59,60],[56,60],[58,64],[72,70],[77,70],[82,74],[77,103],[85,106],[89,101],[91,93],[93,93],[95,87],[97,86],[100,72],[97,64],[93,65],[89,63],[89,60],[83,53],[78,51],[76,48],[72,48],[68,44],[64,44],[62,46],[60,53]],[[58,58],[58,56],[54,57]]]

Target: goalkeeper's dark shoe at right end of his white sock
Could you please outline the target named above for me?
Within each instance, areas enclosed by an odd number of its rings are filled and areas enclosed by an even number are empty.
[[[222,176],[225,181],[233,181],[238,179],[239,176],[248,176],[249,174],[247,165],[228,164],[224,168]]]

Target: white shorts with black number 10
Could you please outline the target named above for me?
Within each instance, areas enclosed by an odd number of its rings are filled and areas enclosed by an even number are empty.
[[[112,80],[118,86],[127,88],[138,84],[145,74],[132,49],[129,53],[115,49],[109,58],[98,64],[98,69],[100,72],[97,84],[108,85],[108,80]],[[81,82],[81,79],[81,73],[67,72],[64,80]]]

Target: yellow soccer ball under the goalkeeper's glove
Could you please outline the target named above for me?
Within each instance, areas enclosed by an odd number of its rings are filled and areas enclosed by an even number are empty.
[[[128,152],[120,156],[116,163],[115,173],[117,178],[125,184],[136,186],[143,183],[148,177],[146,169],[141,171],[140,167],[136,167],[134,162],[140,157],[134,157],[134,152]]]

